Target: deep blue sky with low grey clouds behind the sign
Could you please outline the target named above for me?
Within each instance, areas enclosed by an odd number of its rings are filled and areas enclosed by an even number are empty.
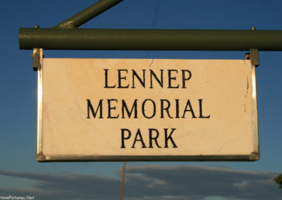
[[[20,27],[52,27],[95,1],[1,1],[0,196],[118,199],[121,162],[37,163],[37,73],[20,50]],[[281,30],[282,1],[124,0],[81,27]],[[44,51],[47,58],[243,59],[244,51]],[[256,162],[130,162],[124,199],[281,199],[282,52],[259,52]],[[194,175],[193,175],[194,174]],[[216,174],[217,176],[214,176]],[[198,176],[195,176],[198,175]],[[204,175],[204,176],[203,176]],[[201,184],[202,182],[207,182]],[[55,184],[56,183],[56,184]],[[88,187],[85,187],[85,184]],[[216,185],[221,185],[217,187]],[[54,187],[54,185],[56,187]],[[92,187],[89,187],[91,186]],[[223,187],[224,186],[224,187]],[[257,186],[257,187],[255,187]],[[69,189],[68,189],[69,188]],[[202,189],[199,189],[202,188]],[[223,188],[223,189],[221,189]],[[68,190],[73,191],[68,194]],[[110,191],[110,192],[109,192]],[[159,192],[156,192],[159,191]],[[203,192],[204,191],[204,192]],[[58,196],[61,194],[60,196]]]

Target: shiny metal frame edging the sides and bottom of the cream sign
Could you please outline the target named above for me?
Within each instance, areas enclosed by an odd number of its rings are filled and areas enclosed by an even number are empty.
[[[99,155],[47,155],[42,151],[42,119],[43,119],[43,72],[44,59],[42,50],[39,51],[40,65],[38,68],[38,87],[37,87],[37,161],[56,162],[56,161],[257,161],[259,160],[259,132],[257,124],[257,88],[256,88],[256,66],[251,62],[251,88],[252,88],[252,112],[253,112],[253,142],[255,149],[251,154],[243,155],[173,155],[173,156],[99,156]]]

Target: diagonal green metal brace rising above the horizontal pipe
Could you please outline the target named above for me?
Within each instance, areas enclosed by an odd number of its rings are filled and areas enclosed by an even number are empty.
[[[108,10],[109,8],[115,6],[119,2],[123,0],[100,0],[97,1],[92,6],[85,8],[85,10],[73,15],[73,17],[68,18],[67,20],[63,21],[56,27],[61,28],[72,28],[72,27],[79,27],[80,25],[86,23],[87,21],[91,20],[92,18],[96,17],[97,15],[103,13],[104,11]]]

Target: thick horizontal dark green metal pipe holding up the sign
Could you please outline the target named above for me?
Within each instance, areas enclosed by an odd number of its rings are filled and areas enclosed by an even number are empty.
[[[20,49],[282,51],[282,30],[20,28]]]

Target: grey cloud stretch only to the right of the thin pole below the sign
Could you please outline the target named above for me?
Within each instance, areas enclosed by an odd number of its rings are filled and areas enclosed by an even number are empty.
[[[226,199],[269,199],[271,196],[271,199],[282,199],[281,191],[273,181],[276,173],[194,166],[136,166],[128,168],[127,173],[133,177],[137,174],[168,183],[158,189],[151,189],[144,184],[140,187],[147,193],[139,189],[142,191],[140,195],[185,196],[184,199],[204,199],[207,196],[222,196]],[[128,178],[131,187],[133,180]],[[137,183],[134,188],[137,188]],[[137,192],[128,189],[129,196]]]

